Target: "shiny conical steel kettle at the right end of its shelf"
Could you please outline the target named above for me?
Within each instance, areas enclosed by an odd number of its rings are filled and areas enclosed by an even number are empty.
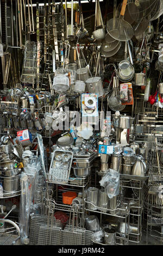
[[[132,175],[145,176],[146,174],[146,163],[142,156],[136,157],[136,162],[133,166],[133,170],[131,172]]]

